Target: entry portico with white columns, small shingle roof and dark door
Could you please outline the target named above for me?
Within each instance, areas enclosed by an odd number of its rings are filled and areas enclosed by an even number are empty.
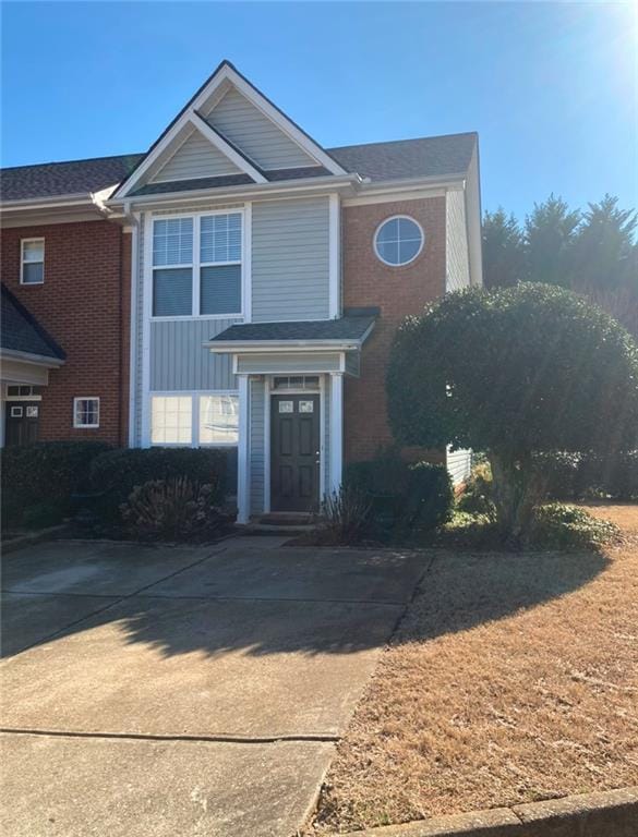
[[[317,511],[341,484],[344,377],[359,375],[370,315],[234,325],[206,342],[239,386],[238,522]]]

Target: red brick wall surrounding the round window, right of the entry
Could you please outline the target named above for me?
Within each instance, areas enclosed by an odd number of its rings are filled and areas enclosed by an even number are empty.
[[[384,265],[373,247],[376,228],[393,215],[409,215],[425,232],[423,250],[404,267]],[[392,444],[385,397],[389,347],[406,316],[445,292],[445,198],[346,207],[342,236],[344,306],[381,308],[363,347],[361,377],[345,380],[345,454],[352,461],[371,459],[380,446]]]

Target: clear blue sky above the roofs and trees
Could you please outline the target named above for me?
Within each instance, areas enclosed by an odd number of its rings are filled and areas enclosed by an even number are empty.
[[[637,11],[5,2],[2,165],[145,150],[229,58],[326,146],[478,131],[484,208],[638,207]]]

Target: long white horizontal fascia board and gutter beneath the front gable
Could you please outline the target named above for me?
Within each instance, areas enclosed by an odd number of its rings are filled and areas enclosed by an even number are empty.
[[[140,209],[169,209],[172,205],[188,204],[197,205],[200,203],[210,204],[214,201],[222,201],[228,203],[228,199],[232,201],[258,201],[260,197],[264,199],[270,197],[304,197],[308,194],[315,194],[320,192],[325,195],[329,195],[336,191],[349,191],[358,183],[359,178],[357,174],[345,174],[342,177],[335,177],[327,174],[326,177],[318,178],[300,178],[299,180],[288,181],[267,181],[265,183],[244,184],[239,186],[226,186],[224,189],[197,189],[185,190],[182,192],[164,192],[161,194],[154,195],[136,195],[135,197],[128,197],[125,203],[131,208],[132,206],[140,207]],[[110,208],[121,208],[124,205],[124,201],[112,197],[107,202],[107,206]]]

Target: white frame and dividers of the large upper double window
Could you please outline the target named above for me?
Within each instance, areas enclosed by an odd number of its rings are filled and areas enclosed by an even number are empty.
[[[250,205],[249,205],[250,206]],[[200,236],[201,236],[201,219],[209,217],[212,215],[241,215],[241,259],[232,262],[201,262],[200,260]],[[154,265],[153,264],[153,236],[155,232],[155,221],[162,220],[180,220],[183,218],[193,219],[193,256],[190,264],[182,265]],[[148,263],[145,265],[147,274],[147,293],[149,296],[149,317],[155,322],[172,322],[184,319],[248,319],[250,316],[250,301],[249,301],[249,282],[250,276],[250,257],[246,259],[246,253],[251,246],[250,231],[246,232],[246,225],[252,222],[252,214],[246,206],[238,206],[231,209],[200,209],[192,213],[176,213],[173,215],[152,215],[148,219],[149,223],[149,246]],[[227,265],[240,265],[240,288],[241,288],[241,311],[232,314],[201,314],[200,313],[200,293],[201,293],[201,268],[202,267],[225,267]],[[248,265],[248,269],[246,269]],[[191,300],[191,313],[190,314],[161,314],[155,315],[153,313],[153,290],[154,290],[154,272],[155,270],[176,270],[181,268],[191,268],[192,275],[192,300]],[[195,313],[196,312],[196,313]]]

